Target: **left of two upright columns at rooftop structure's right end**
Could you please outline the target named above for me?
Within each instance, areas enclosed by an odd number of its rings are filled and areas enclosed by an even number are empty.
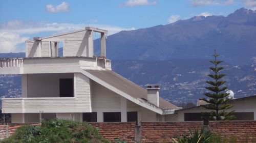
[[[86,38],[88,41],[86,41],[86,49],[87,49],[87,56],[93,57],[94,55],[94,49],[93,49],[93,31],[87,30],[86,31]]]

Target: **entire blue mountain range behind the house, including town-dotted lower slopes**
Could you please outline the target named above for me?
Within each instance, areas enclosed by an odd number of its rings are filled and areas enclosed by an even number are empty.
[[[161,84],[160,96],[175,103],[194,102],[206,92],[214,49],[235,98],[256,93],[256,11],[241,8],[228,16],[196,16],[167,25],[121,31],[108,36],[112,69],[141,85]],[[95,42],[99,53],[99,39]],[[0,53],[0,58],[25,53]],[[19,75],[0,75],[0,96],[21,94]]]

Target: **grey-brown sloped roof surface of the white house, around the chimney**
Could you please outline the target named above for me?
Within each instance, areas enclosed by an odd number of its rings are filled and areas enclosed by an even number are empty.
[[[117,88],[118,90],[120,90],[134,98],[147,99],[147,90],[146,89],[143,89],[139,85],[122,77],[121,75],[115,73],[114,71],[111,71],[111,70],[85,70],[85,71],[98,77],[99,79],[103,80],[104,82],[109,83],[113,87]],[[159,97],[159,107],[162,109],[178,108],[174,104],[164,100],[161,97]]]

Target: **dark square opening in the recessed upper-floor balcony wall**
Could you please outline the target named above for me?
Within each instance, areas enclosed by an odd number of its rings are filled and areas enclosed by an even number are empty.
[[[59,79],[59,97],[74,97],[73,78]]]

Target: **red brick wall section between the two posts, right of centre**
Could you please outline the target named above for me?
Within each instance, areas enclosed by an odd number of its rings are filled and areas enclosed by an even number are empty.
[[[199,129],[202,122],[142,122],[142,142],[163,142]]]

